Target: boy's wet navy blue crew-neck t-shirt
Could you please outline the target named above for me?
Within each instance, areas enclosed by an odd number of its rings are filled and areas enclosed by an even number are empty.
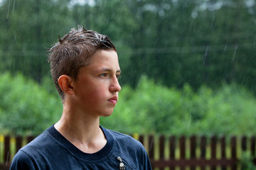
[[[151,164],[143,145],[129,135],[102,128],[107,139],[105,147],[87,154],[65,139],[52,125],[35,140],[21,148],[11,163],[19,169],[119,169],[150,170]]]

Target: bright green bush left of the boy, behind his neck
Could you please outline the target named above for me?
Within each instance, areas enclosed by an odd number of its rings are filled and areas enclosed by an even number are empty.
[[[1,74],[1,133],[38,135],[62,113],[60,99],[21,74]]]

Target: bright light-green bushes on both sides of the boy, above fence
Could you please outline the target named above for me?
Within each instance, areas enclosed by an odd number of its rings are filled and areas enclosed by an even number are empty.
[[[0,133],[38,135],[62,113],[53,84],[38,85],[21,74],[0,75]],[[136,89],[123,86],[105,128],[125,133],[166,135],[253,135],[255,97],[236,84],[213,91],[202,86],[169,88],[142,77]]]

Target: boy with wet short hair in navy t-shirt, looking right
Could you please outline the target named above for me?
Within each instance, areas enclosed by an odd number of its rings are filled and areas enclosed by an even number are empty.
[[[81,26],[49,50],[60,120],[15,155],[11,169],[151,169],[142,144],[100,126],[117,104],[121,73],[110,38]]]

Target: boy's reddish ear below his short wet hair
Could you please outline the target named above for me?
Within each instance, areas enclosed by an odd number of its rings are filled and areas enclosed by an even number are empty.
[[[67,75],[58,78],[58,85],[65,94],[74,94],[73,79]]]

